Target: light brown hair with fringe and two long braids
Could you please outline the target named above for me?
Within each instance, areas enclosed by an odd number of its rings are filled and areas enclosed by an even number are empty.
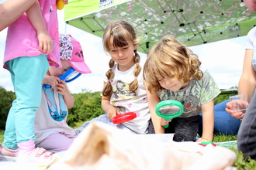
[[[110,42],[110,39],[112,39],[112,44]],[[103,34],[103,48],[106,51],[106,53],[109,53],[111,48],[114,47],[123,47],[127,46],[129,42],[131,42],[133,45],[139,43],[139,39],[136,37],[136,33],[133,29],[133,26],[130,25],[130,23],[126,21],[117,21],[112,22],[108,26],[106,26],[106,29]],[[112,45],[112,46],[110,46]],[[140,67],[140,56],[137,53],[137,49],[134,50],[135,56],[133,56],[134,63],[137,63],[137,66],[133,70],[133,75],[135,79],[133,82],[129,84],[129,89],[132,92],[135,92],[137,90],[139,83],[137,80],[137,76],[139,75],[141,71]],[[110,59],[109,60],[109,70],[106,72],[106,77],[108,78],[108,82],[103,87],[102,95],[105,97],[111,97],[113,90],[110,80],[112,80],[115,76],[114,72],[112,71],[112,67],[114,66],[115,61]]]

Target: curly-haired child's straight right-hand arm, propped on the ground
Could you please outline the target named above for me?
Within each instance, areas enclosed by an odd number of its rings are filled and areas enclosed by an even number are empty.
[[[214,101],[211,100],[207,104],[202,104],[202,138],[201,141],[213,141],[214,128]]]

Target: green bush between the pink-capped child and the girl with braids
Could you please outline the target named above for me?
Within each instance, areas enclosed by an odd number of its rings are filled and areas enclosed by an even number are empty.
[[[79,121],[90,121],[104,114],[101,106],[101,92],[75,93],[74,107],[68,110],[67,124],[75,127]]]

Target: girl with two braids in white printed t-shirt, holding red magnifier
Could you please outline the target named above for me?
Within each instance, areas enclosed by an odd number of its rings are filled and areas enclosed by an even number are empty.
[[[141,70],[143,62],[137,53],[139,40],[133,26],[125,21],[113,22],[106,27],[102,41],[106,53],[111,56],[102,90],[102,109],[106,114],[92,121],[102,121],[136,134],[146,134],[150,114]],[[135,112],[137,117],[123,124],[112,123],[113,117],[126,112]],[[79,134],[92,121],[82,124],[75,130],[76,133]]]

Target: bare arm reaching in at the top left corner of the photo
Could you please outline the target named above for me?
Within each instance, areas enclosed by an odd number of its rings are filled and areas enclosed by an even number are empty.
[[[36,0],[8,0],[0,4],[0,31],[15,22]]]

